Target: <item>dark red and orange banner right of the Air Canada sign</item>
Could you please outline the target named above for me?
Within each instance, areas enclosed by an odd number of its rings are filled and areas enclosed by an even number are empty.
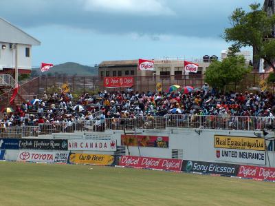
[[[168,136],[121,135],[121,145],[140,147],[169,147]]]

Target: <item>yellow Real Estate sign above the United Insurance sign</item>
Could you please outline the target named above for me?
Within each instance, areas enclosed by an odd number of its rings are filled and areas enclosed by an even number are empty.
[[[214,136],[214,147],[265,151],[265,139],[245,136]]]

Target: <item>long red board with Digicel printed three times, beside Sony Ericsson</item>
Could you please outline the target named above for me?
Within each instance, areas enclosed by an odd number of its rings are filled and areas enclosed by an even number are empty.
[[[182,160],[145,156],[122,156],[120,159],[120,165],[125,167],[181,171]]]

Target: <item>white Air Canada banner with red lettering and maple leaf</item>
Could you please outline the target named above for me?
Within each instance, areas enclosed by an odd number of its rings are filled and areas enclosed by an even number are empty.
[[[97,139],[69,139],[68,150],[85,150],[85,151],[115,151],[116,142],[113,140]]]

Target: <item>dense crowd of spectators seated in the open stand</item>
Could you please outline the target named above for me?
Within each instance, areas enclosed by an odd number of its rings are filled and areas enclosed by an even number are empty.
[[[274,117],[275,99],[271,92],[215,92],[205,84],[191,92],[98,92],[83,94],[74,99],[72,94],[46,94],[41,99],[17,106],[14,112],[3,112],[1,127],[65,123],[106,118],[135,119],[137,116],[166,116],[167,114],[212,116]]]

